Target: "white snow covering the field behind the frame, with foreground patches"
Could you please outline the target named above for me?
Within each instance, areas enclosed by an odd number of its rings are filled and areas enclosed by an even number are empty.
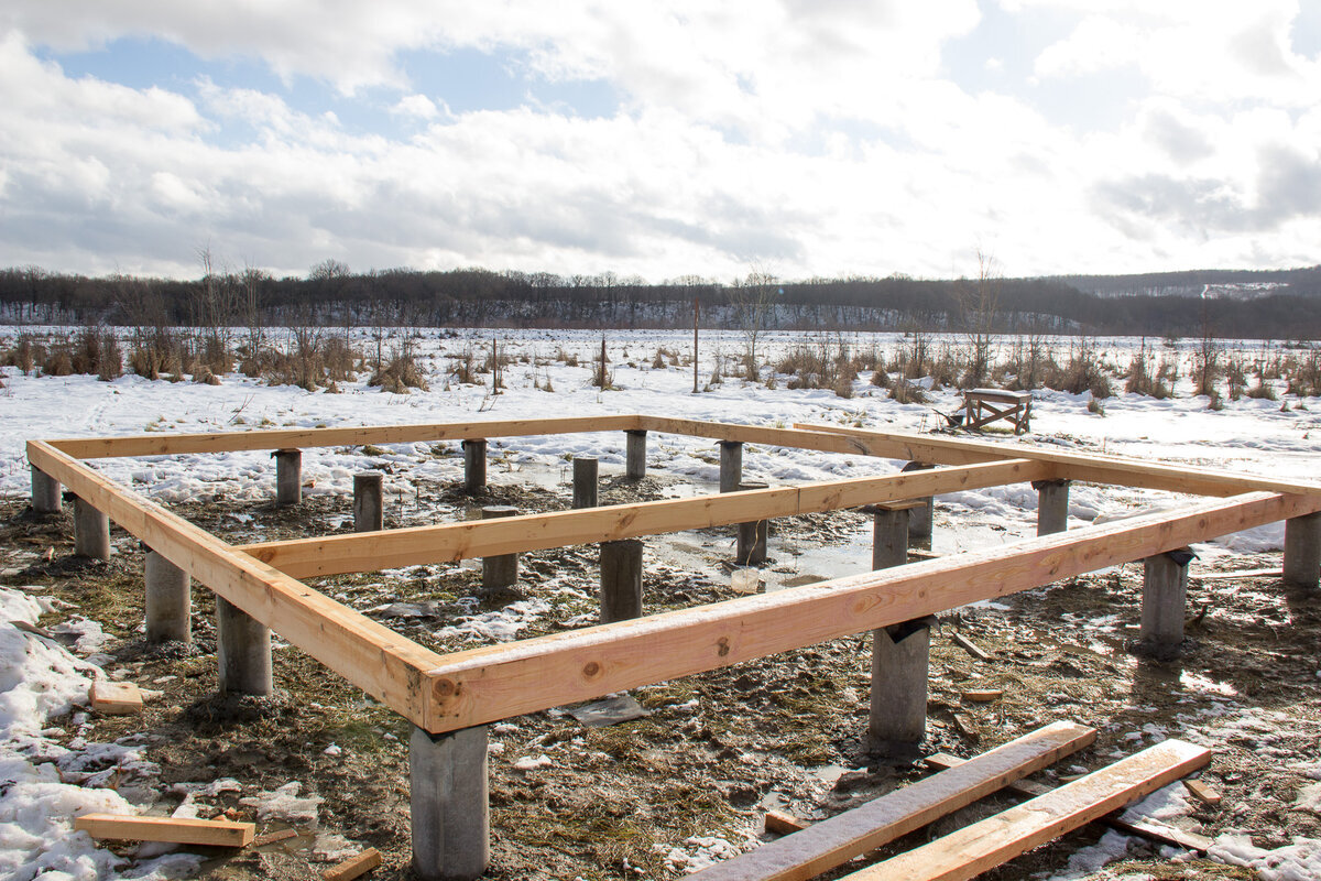
[[[25,329],[28,330],[28,329]],[[18,329],[0,329],[0,350]],[[410,332],[411,333],[411,332]],[[398,342],[404,332],[387,339]],[[478,358],[490,353],[497,339],[501,354],[513,358],[503,369],[505,388],[493,395],[490,374],[477,376],[483,384],[460,384],[448,376],[453,359],[473,351]],[[602,335],[593,332],[450,332],[423,330],[412,342],[425,369],[429,390],[398,395],[366,384],[367,371],[355,382],[341,383],[339,394],[325,390],[306,392],[292,386],[268,386],[239,374],[222,378],[217,386],[192,382],[148,382],[125,375],[112,382],[94,376],[29,376],[15,367],[0,369],[0,495],[24,498],[29,472],[24,457],[28,439],[136,435],[143,432],[222,432],[260,428],[313,428],[386,425],[404,423],[454,423],[481,420],[540,419],[650,412],[675,417],[709,419],[753,425],[789,427],[795,423],[861,425],[880,431],[921,432],[945,425],[941,413],[958,408],[956,390],[934,390],[926,404],[897,404],[863,372],[853,383],[852,396],[831,390],[791,390],[789,376],[768,387],[768,374],[746,382],[724,372],[712,383],[717,359],[731,362],[745,346],[738,333],[703,332],[701,361],[694,394],[691,366],[671,365],[691,355],[690,332],[606,332],[613,388],[592,384],[592,358],[598,355]],[[358,332],[363,351],[373,351],[370,332]],[[758,346],[768,362],[795,345],[840,343],[853,350],[878,347],[892,354],[904,345],[898,334],[785,334],[765,335]],[[1100,339],[1098,351],[1110,362],[1127,363],[1137,349],[1136,339]],[[1255,343],[1247,343],[1255,345]],[[1067,355],[1069,341],[1055,342],[1057,357]],[[664,367],[654,367],[658,351]],[[1189,367],[1192,343],[1181,350],[1159,354],[1182,362],[1174,396],[1155,400],[1119,394],[1103,402],[1103,413],[1089,408],[1091,396],[1052,390],[1034,394],[1030,444],[1050,444],[1065,449],[1098,450],[1149,460],[1227,469],[1285,479],[1321,481],[1321,400],[1287,398],[1225,402],[1225,408],[1207,408],[1206,398],[1192,395]],[[572,365],[573,357],[577,365]],[[921,383],[921,380],[919,380]],[[929,383],[927,383],[929,384]],[[1122,391],[1123,380],[1114,380]],[[550,387],[552,391],[547,391]],[[1283,392],[1283,383],[1277,392]],[[1283,394],[1279,395],[1284,398]],[[1313,437],[1313,433],[1316,436]],[[995,437],[1004,437],[996,435]],[[453,454],[437,456],[429,444],[406,444],[366,453],[361,448],[306,450],[304,479],[306,494],[351,493],[353,473],[388,464],[390,493],[410,497],[411,481],[456,481],[462,472],[457,445]],[[604,474],[624,470],[622,433],[506,439],[491,441],[493,482],[551,482],[567,479],[571,454],[598,456]],[[746,479],[771,485],[881,474],[898,462],[861,457],[822,456],[799,450],[761,449],[745,454]],[[653,439],[647,450],[649,473],[682,478],[709,491],[717,478],[715,444],[701,439],[663,436]],[[273,495],[273,468],[266,452],[214,456],[103,460],[98,468],[123,485],[132,486],[161,502],[263,501]],[[1118,515],[1147,505],[1159,505],[1168,494],[1143,490],[1078,486],[1071,493],[1071,526],[1083,526],[1098,515]],[[1029,535],[1036,520],[1036,494],[1025,487],[999,487],[959,493],[941,499],[947,511],[971,524],[956,535],[956,547],[974,547],[983,540],[1004,540]],[[979,530],[979,527],[983,527]],[[1251,535],[1230,536],[1197,548],[1202,563],[1234,552],[1277,549],[1283,524],[1255,530]],[[861,544],[849,552],[856,552]],[[939,549],[939,548],[938,548]],[[828,557],[831,549],[818,551]],[[827,575],[847,571],[853,560],[819,560]],[[38,590],[40,592],[40,588]],[[42,605],[45,604],[45,605]],[[107,787],[112,771],[137,767],[143,762],[133,744],[96,744],[83,737],[57,742],[87,722],[83,701],[87,682],[106,674],[98,664],[99,626],[79,621],[67,626],[79,630],[70,652],[62,645],[32,638],[15,625],[36,625],[52,601],[33,598],[24,590],[0,588],[0,877],[28,881],[46,878],[172,877],[190,870],[197,859],[168,853],[144,845],[133,859],[122,859],[94,847],[82,833],[71,833],[70,818],[90,810],[133,812],[133,804]],[[513,633],[517,633],[517,622]],[[1321,670],[1317,671],[1321,676]],[[69,715],[70,707],[74,712]],[[48,726],[48,720],[58,728]],[[1232,726],[1231,720],[1225,721]],[[136,763],[136,765],[135,765]],[[149,770],[149,769],[148,769]],[[125,771],[127,773],[127,771]],[[1321,763],[1309,774],[1321,778]],[[1321,783],[1317,785],[1321,787]],[[1181,799],[1162,791],[1149,800],[1161,818],[1180,811]],[[205,794],[201,791],[199,794]],[[185,798],[184,814],[194,794]],[[281,798],[297,802],[296,793],[266,794],[262,804]],[[1304,794],[1321,811],[1321,794]],[[1107,836],[1094,853],[1082,853],[1070,877],[1089,877],[1110,856],[1122,853],[1118,835]],[[676,847],[684,847],[676,843]],[[1108,851],[1106,849],[1108,848]],[[690,847],[691,849],[691,847]],[[719,851],[719,848],[716,848]],[[1108,855],[1108,856],[1107,856]],[[1288,852],[1266,853],[1243,835],[1225,835],[1215,855],[1225,861],[1252,865],[1260,877],[1281,881],[1321,877],[1321,844],[1300,839]],[[694,861],[697,865],[700,861]]]

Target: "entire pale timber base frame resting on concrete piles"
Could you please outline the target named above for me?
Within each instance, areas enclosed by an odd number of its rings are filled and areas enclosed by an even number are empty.
[[[571,432],[664,432],[939,468],[795,487],[499,520],[231,546],[85,458]],[[213,435],[33,440],[28,458],[288,642],[432,733],[713,670],[1025,590],[1229,532],[1321,511],[1321,486],[1119,457],[834,425],[764,428],[645,415]],[[299,579],[635,538],[1073,479],[1214,497],[1174,511],[522,642],[437,654]]]

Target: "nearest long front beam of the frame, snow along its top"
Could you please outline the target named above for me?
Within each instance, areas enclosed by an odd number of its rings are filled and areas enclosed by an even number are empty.
[[[432,730],[468,728],[727,667],[1317,510],[1317,497],[1254,493],[835,581],[454,652],[428,672],[435,700]]]

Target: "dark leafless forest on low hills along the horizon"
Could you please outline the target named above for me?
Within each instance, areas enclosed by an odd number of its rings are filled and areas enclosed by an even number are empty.
[[[326,260],[306,277],[203,271],[196,280],[0,269],[0,321],[132,326],[406,325],[960,330],[1321,338],[1321,267],[1128,276],[908,276],[649,284],[613,273],[384,269]],[[1206,296],[1202,296],[1202,295]]]

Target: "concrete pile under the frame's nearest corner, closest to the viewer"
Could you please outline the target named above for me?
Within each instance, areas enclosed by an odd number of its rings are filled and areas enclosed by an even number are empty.
[[[423,881],[474,881],[490,864],[486,725],[408,738],[413,872]]]

